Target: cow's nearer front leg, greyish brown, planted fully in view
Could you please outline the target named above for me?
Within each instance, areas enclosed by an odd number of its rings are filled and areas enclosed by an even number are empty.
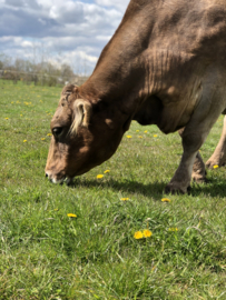
[[[217,84],[216,88],[214,79],[218,79],[215,72],[209,73],[209,78],[205,87],[203,87],[202,99],[181,134],[183,158],[173,179],[166,187],[166,192],[187,192],[196,154],[206,140],[212,127],[225,109],[224,84]]]

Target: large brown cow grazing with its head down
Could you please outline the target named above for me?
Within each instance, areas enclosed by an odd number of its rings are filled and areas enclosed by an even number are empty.
[[[198,150],[220,113],[226,0],[131,0],[89,79],[61,92],[46,176],[70,182],[101,164],[136,120],[166,134],[183,129],[181,161],[166,192],[186,193]]]

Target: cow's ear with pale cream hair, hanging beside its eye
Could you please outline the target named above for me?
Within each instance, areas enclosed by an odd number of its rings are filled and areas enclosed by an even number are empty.
[[[75,120],[71,126],[71,132],[77,132],[79,127],[89,127],[92,108],[90,102],[83,99],[77,99],[73,103]]]

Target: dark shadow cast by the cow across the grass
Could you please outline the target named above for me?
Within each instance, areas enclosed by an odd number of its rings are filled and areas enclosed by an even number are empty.
[[[111,189],[122,192],[140,193],[145,197],[151,197],[159,201],[159,197],[163,196],[167,182],[154,182],[154,183],[141,183],[138,181],[118,181],[109,179],[107,181],[98,182],[97,180],[87,180],[77,178],[70,188],[96,188],[96,189]],[[191,184],[191,197],[206,194],[210,197],[226,197],[226,181],[222,179],[209,179],[208,183]]]

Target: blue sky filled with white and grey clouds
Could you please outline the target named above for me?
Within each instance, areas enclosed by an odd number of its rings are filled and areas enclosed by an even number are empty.
[[[69,63],[89,74],[129,0],[0,0],[0,58]]]

